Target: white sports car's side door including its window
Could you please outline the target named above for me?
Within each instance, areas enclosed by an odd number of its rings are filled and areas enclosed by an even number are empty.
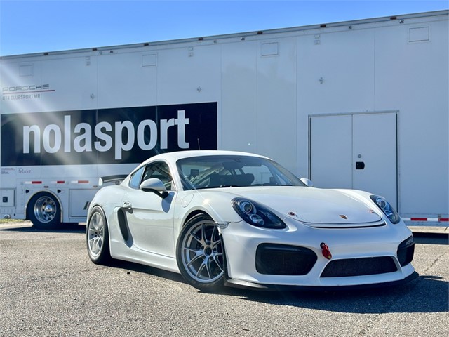
[[[126,219],[136,248],[149,253],[175,257],[173,242],[173,206],[176,192],[168,164],[157,161],[137,171],[130,181],[130,192],[123,197]],[[155,192],[144,192],[139,186],[149,178],[160,179],[168,190],[163,198]]]

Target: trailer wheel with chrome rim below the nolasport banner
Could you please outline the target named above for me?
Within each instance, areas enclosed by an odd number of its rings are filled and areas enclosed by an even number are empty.
[[[27,218],[34,227],[50,230],[61,223],[61,206],[53,194],[41,192],[34,195],[28,203]]]

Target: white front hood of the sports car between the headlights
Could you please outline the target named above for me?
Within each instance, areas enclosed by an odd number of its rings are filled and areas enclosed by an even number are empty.
[[[347,225],[382,220],[368,203],[342,190],[283,186],[250,187],[232,192],[302,223]]]

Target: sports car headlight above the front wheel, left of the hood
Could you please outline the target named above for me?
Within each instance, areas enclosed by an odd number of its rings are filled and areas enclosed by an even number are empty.
[[[232,199],[232,207],[250,225],[281,230],[287,225],[272,211],[254,201],[243,198]]]

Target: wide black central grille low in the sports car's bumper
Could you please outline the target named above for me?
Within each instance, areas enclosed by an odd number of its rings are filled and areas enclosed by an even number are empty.
[[[348,258],[333,260],[326,265],[321,277],[349,277],[361,275],[376,275],[396,272],[398,268],[390,256],[377,258]]]

